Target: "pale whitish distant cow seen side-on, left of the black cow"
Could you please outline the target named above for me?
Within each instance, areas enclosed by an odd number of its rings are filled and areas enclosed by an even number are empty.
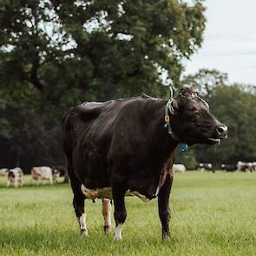
[[[39,184],[39,181],[49,181],[50,184],[56,182],[59,172],[51,167],[33,167],[31,169],[32,180]]]

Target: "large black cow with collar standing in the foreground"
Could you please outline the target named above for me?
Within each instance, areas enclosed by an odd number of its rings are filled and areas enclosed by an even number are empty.
[[[88,234],[84,199],[102,198],[107,231],[113,199],[114,239],[121,240],[129,193],[142,200],[158,197],[162,237],[169,236],[174,149],[181,141],[217,144],[226,133],[207,102],[187,88],[168,102],[141,96],[70,108],[63,119],[63,146],[82,235]]]

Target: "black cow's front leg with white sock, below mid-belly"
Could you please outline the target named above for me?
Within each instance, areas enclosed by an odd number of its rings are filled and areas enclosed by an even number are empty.
[[[115,207],[115,235],[114,240],[121,241],[121,230],[126,219],[127,213],[125,208],[124,196],[126,193],[126,187],[124,184],[113,184],[112,195]]]

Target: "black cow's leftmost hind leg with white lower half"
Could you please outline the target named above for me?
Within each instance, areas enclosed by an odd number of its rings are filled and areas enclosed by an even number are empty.
[[[75,215],[80,227],[80,233],[82,236],[88,235],[88,230],[86,226],[86,213],[84,211],[84,195],[82,194],[82,183],[76,178],[73,172],[69,171],[70,184],[73,190],[74,199],[73,207],[75,209]]]

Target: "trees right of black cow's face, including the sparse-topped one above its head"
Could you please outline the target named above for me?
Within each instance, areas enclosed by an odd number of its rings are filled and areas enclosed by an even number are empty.
[[[195,75],[187,75],[182,84],[194,88],[203,95],[213,115],[228,127],[228,138],[220,145],[191,148],[196,160],[213,162],[217,167],[220,167],[221,163],[255,161],[255,87],[227,84],[227,75],[215,69],[200,69]]]

